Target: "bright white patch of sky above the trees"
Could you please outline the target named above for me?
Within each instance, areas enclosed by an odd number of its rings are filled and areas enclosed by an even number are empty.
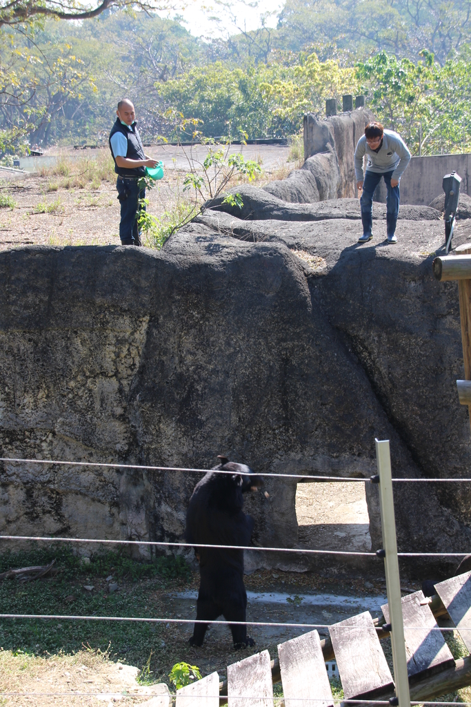
[[[277,15],[283,3],[278,0],[257,2],[217,0],[187,0],[183,16],[184,26],[195,37],[226,38],[239,34],[241,30],[256,30],[262,26],[262,18],[268,27],[275,27]],[[180,20],[181,21],[181,20]]]

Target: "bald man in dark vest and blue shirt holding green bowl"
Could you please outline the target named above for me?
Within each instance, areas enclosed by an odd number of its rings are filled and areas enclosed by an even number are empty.
[[[114,159],[114,171],[118,175],[116,188],[121,204],[119,238],[122,245],[142,245],[137,217],[139,199],[144,199],[145,187],[139,182],[145,177],[145,168],[155,167],[157,160],[144,152],[131,101],[127,98],[120,100],[116,115],[116,122],[109,133],[109,149]]]

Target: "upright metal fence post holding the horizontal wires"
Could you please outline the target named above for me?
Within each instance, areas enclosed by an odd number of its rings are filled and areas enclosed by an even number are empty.
[[[384,568],[386,572],[386,592],[388,594],[389,620],[391,624],[391,645],[395,694],[399,707],[410,707],[409,679],[407,677],[407,657],[405,655],[403,607],[400,601],[400,578],[398,544],[395,536],[393,483],[391,481],[391,460],[389,440],[376,443],[376,464],[379,476],[379,504],[381,508],[381,532],[383,533]]]

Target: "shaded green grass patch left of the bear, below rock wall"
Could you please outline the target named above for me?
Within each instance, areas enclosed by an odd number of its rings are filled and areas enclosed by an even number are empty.
[[[160,556],[137,562],[122,554],[90,557],[90,563],[64,548],[0,555],[0,572],[45,565],[55,560],[52,578],[31,582],[0,581],[0,606],[4,614],[61,614],[109,617],[164,617],[162,590],[185,585],[191,569],[180,556]],[[107,592],[107,577],[119,590]],[[93,585],[92,591],[84,587]],[[0,619],[0,646],[29,655],[75,653],[84,646],[112,652],[133,665],[145,665],[161,641],[161,624],[76,619]]]

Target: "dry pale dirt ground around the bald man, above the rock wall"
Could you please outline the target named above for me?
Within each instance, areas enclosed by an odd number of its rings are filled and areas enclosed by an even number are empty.
[[[287,163],[287,147],[247,149],[244,156],[261,163],[257,184],[286,177],[297,166]],[[188,170],[181,149],[148,148],[148,153],[164,160],[165,177],[146,195],[150,214],[161,217],[175,209],[178,197],[187,199],[182,189]],[[100,164],[108,160],[109,173],[105,180],[87,182],[84,177],[94,160]],[[34,173],[0,170],[0,198],[8,195],[15,202],[13,209],[1,208],[0,202],[0,250],[23,245],[119,245],[119,202],[107,150],[79,155],[66,151],[61,163],[66,175],[57,173],[50,162],[38,165]]]

